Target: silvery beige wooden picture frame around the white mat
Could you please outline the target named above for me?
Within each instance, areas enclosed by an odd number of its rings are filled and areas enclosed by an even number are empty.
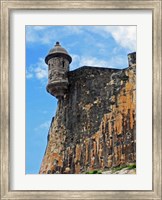
[[[12,191],[10,190],[10,12],[12,10],[152,10],[153,73],[152,73],[152,145],[153,189],[151,191]],[[161,0],[121,1],[1,1],[1,199],[161,199],[162,198],[162,88],[161,88]]]

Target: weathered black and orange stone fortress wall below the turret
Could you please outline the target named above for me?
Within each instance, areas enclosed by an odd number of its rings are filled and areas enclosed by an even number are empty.
[[[85,173],[136,161],[136,53],[123,70],[68,72],[39,173]]]

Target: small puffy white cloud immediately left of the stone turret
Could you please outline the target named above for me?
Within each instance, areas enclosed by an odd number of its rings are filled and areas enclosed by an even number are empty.
[[[37,78],[37,79],[47,79],[48,67],[44,62],[43,58],[39,58],[36,64],[33,64],[26,71],[26,78]]]

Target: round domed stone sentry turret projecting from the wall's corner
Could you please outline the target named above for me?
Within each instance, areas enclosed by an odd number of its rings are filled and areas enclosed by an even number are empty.
[[[61,47],[59,42],[56,42],[45,58],[45,63],[48,65],[48,84],[47,92],[56,98],[61,98],[66,94],[68,89],[69,64],[72,58],[68,52]]]

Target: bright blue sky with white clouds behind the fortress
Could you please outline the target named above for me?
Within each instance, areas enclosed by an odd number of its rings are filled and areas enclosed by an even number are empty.
[[[26,26],[26,174],[39,172],[57,100],[46,92],[44,58],[59,41],[81,66],[125,68],[136,51],[136,26]]]

